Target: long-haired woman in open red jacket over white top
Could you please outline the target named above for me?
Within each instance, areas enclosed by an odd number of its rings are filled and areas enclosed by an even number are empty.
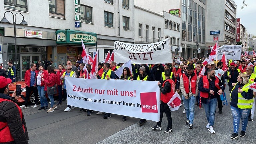
[[[45,90],[44,90],[45,82],[42,81],[42,78],[46,78],[47,75],[48,75],[47,70],[45,70],[44,66],[40,64],[38,67],[38,71],[36,72],[36,86],[37,86],[37,90],[38,90],[38,94],[41,102],[41,107],[38,110],[48,109],[48,101],[47,101],[47,98],[45,97]]]

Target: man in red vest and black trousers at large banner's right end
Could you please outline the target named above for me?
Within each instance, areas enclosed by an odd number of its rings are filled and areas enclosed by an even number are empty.
[[[160,104],[160,120],[157,122],[157,125],[154,127],[151,127],[154,130],[162,130],[161,123],[163,119],[163,113],[165,112],[168,126],[167,129],[164,131],[165,133],[172,132],[172,116],[171,116],[171,110],[168,106],[168,102],[172,98],[172,96],[175,93],[175,84],[173,80],[170,79],[171,71],[170,70],[165,70],[164,75],[166,77],[166,80],[164,81],[163,85],[158,82],[160,91],[161,91],[161,104]]]

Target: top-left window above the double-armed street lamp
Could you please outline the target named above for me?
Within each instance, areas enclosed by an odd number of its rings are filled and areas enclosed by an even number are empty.
[[[28,11],[27,0],[4,0],[4,8]]]

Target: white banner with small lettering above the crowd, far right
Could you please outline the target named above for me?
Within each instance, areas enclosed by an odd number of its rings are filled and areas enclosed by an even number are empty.
[[[223,52],[225,51],[226,58],[232,60],[240,60],[241,59],[241,52],[242,52],[242,45],[223,45],[217,48],[217,60],[222,58]],[[214,60],[216,57],[214,58]]]

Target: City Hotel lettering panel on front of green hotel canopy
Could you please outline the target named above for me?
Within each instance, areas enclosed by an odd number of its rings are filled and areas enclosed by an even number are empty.
[[[71,42],[81,42],[81,39],[85,43],[95,43],[97,37],[88,35],[88,34],[70,34],[70,41]]]

